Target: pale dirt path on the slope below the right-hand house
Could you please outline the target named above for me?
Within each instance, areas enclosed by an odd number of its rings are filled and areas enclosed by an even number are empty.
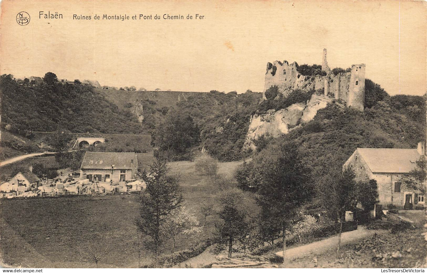
[[[350,244],[354,241],[358,241],[363,238],[370,237],[377,233],[378,235],[388,233],[389,230],[374,230],[374,229],[366,229],[366,227],[359,226],[356,230],[342,232],[341,234],[341,246],[345,244]],[[293,247],[286,250],[287,259],[294,259],[303,256],[316,256],[319,253],[324,253],[331,248],[336,248],[338,246],[338,235],[333,235],[327,239],[322,241],[313,242],[310,244],[306,244],[300,247]],[[278,256],[283,256],[283,251],[279,251],[275,253]]]

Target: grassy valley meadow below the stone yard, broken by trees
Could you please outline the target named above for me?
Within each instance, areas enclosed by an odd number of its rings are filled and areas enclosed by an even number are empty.
[[[149,154],[139,154],[139,158],[146,165],[152,160]],[[231,176],[240,163],[219,163],[219,172]],[[180,177],[184,206],[202,225],[204,216],[200,206],[203,203],[214,206],[217,186],[199,174],[193,162],[172,162],[169,167],[170,174]],[[246,198],[255,210],[254,200],[249,195]],[[1,199],[0,202],[3,264],[14,267],[138,266],[134,247],[138,237],[134,224],[138,215],[136,195]],[[207,218],[204,234],[178,238],[175,250],[186,249],[210,236],[215,218]],[[170,253],[169,247],[165,253]],[[101,256],[98,264],[91,253]],[[141,262],[151,259],[145,252]]]

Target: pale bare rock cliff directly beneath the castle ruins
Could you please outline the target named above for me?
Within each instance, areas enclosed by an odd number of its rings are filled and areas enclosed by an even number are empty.
[[[330,102],[332,99],[327,96],[313,94],[307,103],[295,103],[281,110],[268,110],[265,114],[251,116],[243,148],[255,149],[254,140],[266,134],[280,137],[289,133],[298,125],[312,120],[317,111],[325,108]]]

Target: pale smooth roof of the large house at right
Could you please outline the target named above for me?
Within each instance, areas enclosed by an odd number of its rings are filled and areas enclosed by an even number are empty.
[[[357,148],[372,172],[408,173],[421,157],[417,149]]]

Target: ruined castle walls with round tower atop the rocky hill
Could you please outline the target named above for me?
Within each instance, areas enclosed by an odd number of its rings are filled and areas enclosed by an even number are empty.
[[[324,96],[341,100],[345,106],[363,110],[365,102],[365,64],[353,64],[350,72],[337,73],[330,70],[327,51],[323,49],[322,73],[304,76],[298,72],[298,64],[287,61],[267,63],[263,98],[265,91],[274,85],[284,96],[292,90],[324,90]],[[347,70],[346,70],[347,71]]]

